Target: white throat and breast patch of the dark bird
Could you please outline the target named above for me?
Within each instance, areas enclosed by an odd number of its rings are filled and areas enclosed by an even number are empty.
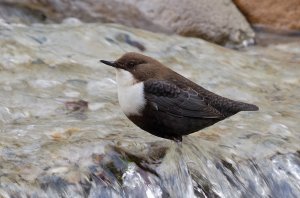
[[[126,116],[141,115],[146,100],[144,83],[137,82],[134,76],[123,69],[117,69],[118,99]]]

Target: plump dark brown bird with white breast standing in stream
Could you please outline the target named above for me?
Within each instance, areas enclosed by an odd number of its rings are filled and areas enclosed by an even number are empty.
[[[214,94],[142,54],[130,52],[116,61],[101,62],[116,68],[118,99],[125,115],[158,137],[182,141],[182,136],[240,111],[258,110]]]

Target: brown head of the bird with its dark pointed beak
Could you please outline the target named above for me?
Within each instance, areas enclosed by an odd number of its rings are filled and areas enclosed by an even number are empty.
[[[101,60],[101,62],[117,70],[130,72],[139,82],[159,78],[164,71],[169,70],[157,60],[135,52],[128,52],[116,61]]]

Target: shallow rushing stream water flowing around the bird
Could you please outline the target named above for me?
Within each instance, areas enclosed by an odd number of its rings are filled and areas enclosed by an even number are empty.
[[[0,25],[0,197],[300,197],[300,42],[225,49],[118,25]],[[113,60],[143,51],[255,103],[180,144],[134,126]]]

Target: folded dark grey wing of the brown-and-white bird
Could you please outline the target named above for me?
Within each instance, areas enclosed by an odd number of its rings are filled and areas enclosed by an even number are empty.
[[[164,80],[147,80],[144,82],[144,91],[149,104],[157,111],[178,117],[224,117],[191,88],[181,89]]]

